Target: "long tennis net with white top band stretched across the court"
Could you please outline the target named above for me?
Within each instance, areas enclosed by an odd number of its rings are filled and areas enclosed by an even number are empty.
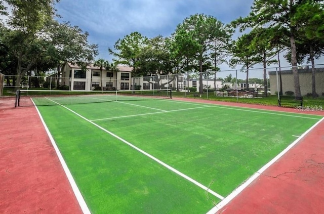
[[[129,90],[129,91],[60,91],[60,90],[18,90],[17,106],[72,105],[112,101],[139,101],[171,99],[172,91]]]

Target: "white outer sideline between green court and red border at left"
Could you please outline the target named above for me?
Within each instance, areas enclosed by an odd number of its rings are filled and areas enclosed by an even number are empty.
[[[46,99],[48,99],[48,98],[46,98]],[[57,147],[57,145],[55,143],[55,140],[54,140],[53,136],[51,135],[51,133],[50,133],[50,131],[49,131],[49,129],[48,129],[48,127],[47,127],[47,125],[46,125],[46,123],[45,123],[42,115],[41,115],[41,112],[39,112],[37,106],[35,105],[35,103],[34,103],[34,101],[32,99],[31,99],[31,102],[33,102],[33,104],[34,104],[34,106],[35,106],[35,108],[37,110],[37,113],[39,115],[39,118],[41,118],[41,121],[42,121],[42,123],[43,123],[43,125],[45,127],[45,130],[46,130],[46,133],[49,136],[49,138],[51,140],[51,143],[53,145],[53,148],[54,148],[54,150],[56,152],[56,155],[57,155],[57,157],[60,160],[60,163],[61,163],[61,165],[62,165],[62,167],[64,169],[64,172],[65,172],[65,175],[66,175],[66,177],[67,177],[67,179],[68,179],[68,181],[69,181],[69,183],[70,183],[70,185],[72,187],[72,190],[73,190],[73,193],[74,193],[74,195],[76,197],[77,202],[79,203],[79,205],[80,205],[83,213],[85,213],[85,214],[88,214],[89,213],[90,214],[91,213],[90,212],[90,209],[87,206],[87,203],[86,203],[85,199],[83,198],[80,190],[77,188],[77,185],[76,185],[76,183],[75,183],[75,181],[73,179],[73,176],[72,176],[69,168],[67,167],[67,164],[65,163],[64,158],[63,158],[63,156],[62,156],[59,148]]]

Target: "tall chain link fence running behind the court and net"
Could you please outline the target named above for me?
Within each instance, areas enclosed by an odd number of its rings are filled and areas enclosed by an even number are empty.
[[[100,78],[100,76],[82,79],[58,78],[55,75],[47,77],[26,75],[18,78],[14,75],[3,75],[1,83],[5,90],[17,88],[70,91],[172,89],[176,96],[180,97],[199,96],[205,99],[228,99],[232,102],[253,98],[255,99],[253,103],[270,105],[276,105],[280,96],[294,97],[296,90],[297,92],[300,90],[305,106],[323,105],[324,65],[298,66],[297,70],[299,84],[296,83],[296,74],[293,73],[292,67],[242,68],[141,77],[129,75],[121,79]],[[15,87],[17,79],[21,79],[21,82]],[[266,100],[269,102],[265,102]]]

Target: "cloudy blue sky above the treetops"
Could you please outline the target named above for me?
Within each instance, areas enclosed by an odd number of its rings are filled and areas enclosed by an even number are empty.
[[[204,13],[223,23],[247,16],[253,0],[61,0],[56,5],[62,21],[90,33],[99,56],[111,60],[108,47],[118,38],[138,31],[147,37],[170,36],[186,17]]]

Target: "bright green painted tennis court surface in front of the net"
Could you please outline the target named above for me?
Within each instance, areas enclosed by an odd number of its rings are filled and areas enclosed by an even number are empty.
[[[92,213],[207,213],[321,119],[170,99],[37,108]]]

